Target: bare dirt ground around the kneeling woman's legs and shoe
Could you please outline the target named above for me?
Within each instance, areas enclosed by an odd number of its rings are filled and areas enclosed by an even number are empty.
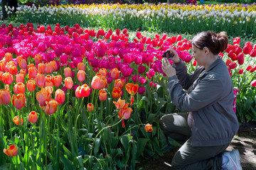
[[[171,152],[164,154],[156,160],[144,161],[137,164],[138,170],[170,170],[171,159],[174,157],[178,148],[172,149]],[[241,165],[243,170],[256,169],[256,122],[243,123],[240,125],[238,134],[235,135],[230,146],[226,149],[231,151],[238,149],[241,157]]]

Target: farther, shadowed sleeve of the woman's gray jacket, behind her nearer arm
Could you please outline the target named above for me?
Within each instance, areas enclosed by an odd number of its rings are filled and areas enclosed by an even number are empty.
[[[194,72],[188,74],[186,64],[181,60],[173,64],[173,66],[176,69],[178,80],[185,90],[188,90],[188,88],[193,84],[193,81],[195,81],[198,75],[202,72],[202,68],[197,67]]]

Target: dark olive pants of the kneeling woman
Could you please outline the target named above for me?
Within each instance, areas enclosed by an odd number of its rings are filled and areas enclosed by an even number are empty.
[[[172,113],[164,115],[159,120],[159,125],[164,133],[176,140],[185,142],[171,161],[173,169],[221,169],[222,152],[228,145],[213,147],[192,147],[191,128],[188,126],[188,113]]]

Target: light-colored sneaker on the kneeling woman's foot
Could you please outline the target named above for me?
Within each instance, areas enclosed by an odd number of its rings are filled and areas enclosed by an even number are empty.
[[[235,149],[232,152],[225,152],[223,155],[228,157],[228,163],[222,166],[223,169],[242,170],[240,154],[238,152],[238,149]]]

